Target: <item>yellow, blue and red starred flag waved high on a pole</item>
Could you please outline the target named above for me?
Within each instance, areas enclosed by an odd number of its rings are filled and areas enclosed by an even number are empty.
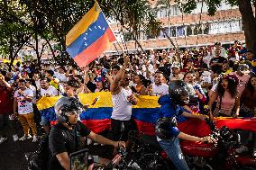
[[[114,40],[114,33],[95,2],[67,34],[66,46],[78,66],[85,67],[108,49]]]

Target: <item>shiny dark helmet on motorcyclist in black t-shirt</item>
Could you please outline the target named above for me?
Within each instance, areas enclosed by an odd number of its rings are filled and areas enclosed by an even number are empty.
[[[67,116],[70,112],[82,112],[83,105],[74,97],[61,97],[54,105],[54,111],[57,120],[60,122],[67,122]]]

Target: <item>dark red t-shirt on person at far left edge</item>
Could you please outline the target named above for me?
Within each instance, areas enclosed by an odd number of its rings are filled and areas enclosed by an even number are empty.
[[[14,97],[12,91],[0,86],[0,114],[14,112]]]

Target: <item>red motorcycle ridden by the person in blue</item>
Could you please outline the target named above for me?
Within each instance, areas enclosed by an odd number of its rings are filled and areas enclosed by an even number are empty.
[[[186,157],[187,165],[194,169],[256,169],[256,158],[237,155],[240,139],[235,131],[226,126],[217,129],[215,121],[206,120],[211,136],[216,143],[196,143],[181,141],[180,147]]]

